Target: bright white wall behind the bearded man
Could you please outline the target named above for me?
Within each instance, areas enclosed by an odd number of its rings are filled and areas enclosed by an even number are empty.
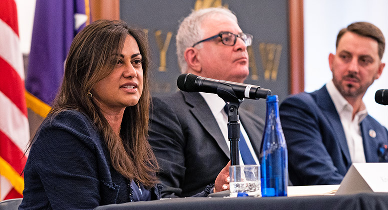
[[[329,53],[335,54],[335,40],[340,29],[353,22],[365,21],[377,26],[388,42],[388,1],[386,0],[304,0],[304,71],[305,91],[321,88],[331,79]],[[374,102],[378,89],[388,89],[388,49],[381,77],[365,93],[368,113],[388,127],[388,106]]]

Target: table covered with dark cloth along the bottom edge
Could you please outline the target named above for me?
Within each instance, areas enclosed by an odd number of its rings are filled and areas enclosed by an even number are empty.
[[[186,197],[99,206],[103,209],[378,209],[388,210],[388,193],[298,197]]]

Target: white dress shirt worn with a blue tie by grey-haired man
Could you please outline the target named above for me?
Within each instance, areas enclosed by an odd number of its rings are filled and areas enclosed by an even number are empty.
[[[226,115],[224,111],[225,102],[222,100],[222,98],[218,97],[217,94],[212,93],[203,93],[200,92],[201,96],[205,99],[207,105],[209,106],[211,112],[214,115],[214,118],[217,121],[218,126],[221,129],[222,135],[224,136],[224,139],[226,141],[226,144],[228,145],[229,151],[230,151],[230,142],[228,138],[228,116]],[[257,159],[256,153],[253,150],[252,144],[249,140],[248,134],[245,132],[244,127],[240,123],[240,130],[242,135],[245,138],[246,144],[248,145],[249,151],[251,152],[253,159],[255,160],[256,164],[259,164],[259,161]],[[260,136],[261,137],[261,136]],[[240,165],[243,165],[243,160],[240,155]]]

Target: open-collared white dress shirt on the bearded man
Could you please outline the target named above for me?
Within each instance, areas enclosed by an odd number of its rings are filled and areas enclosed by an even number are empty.
[[[351,162],[366,162],[360,128],[361,121],[368,115],[365,104],[362,102],[360,111],[353,119],[353,107],[339,93],[332,80],[326,84],[326,88],[341,120]]]

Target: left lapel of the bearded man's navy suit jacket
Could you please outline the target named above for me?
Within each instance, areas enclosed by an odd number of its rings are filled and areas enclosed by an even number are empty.
[[[349,147],[347,146],[345,132],[343,131],[342,123],[335,109],[335,106],[327,92],[326,86],[323,86],[318,91],[315,91],[312,95],[315,95],[314,100],[321,107],[321,110],[325,113],[327,121],[330,123],[332,130],[334,131],[342,150],[342,154],[345,157],[347,167],[350,167],[351,159],[349,153]],[[319,100],[319,101],[318,101]]]

